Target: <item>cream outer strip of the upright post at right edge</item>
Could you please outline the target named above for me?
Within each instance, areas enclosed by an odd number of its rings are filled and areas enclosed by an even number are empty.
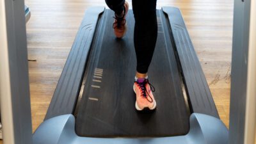
[[[256,0],[251,0],[244,143],[256,144]]]

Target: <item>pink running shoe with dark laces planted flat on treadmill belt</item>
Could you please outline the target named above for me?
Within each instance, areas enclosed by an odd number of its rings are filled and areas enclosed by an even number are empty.
[[[152,93],[155,92],[155,88],[148,82],[148,79],[138,79],[135,81],[133,90],[136,93],[135,108],[138,111],[156,109],[156,100]]]

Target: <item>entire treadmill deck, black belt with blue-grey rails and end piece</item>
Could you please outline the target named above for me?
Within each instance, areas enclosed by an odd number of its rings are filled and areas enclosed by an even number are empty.
[[[156,88],[153,113],[136,111],[134,17],[124,38],[114,13],[89,8],[77,32],[35,144],[227,144],[221,122],[179,8],[157,10],[158,36],[148,70]]]

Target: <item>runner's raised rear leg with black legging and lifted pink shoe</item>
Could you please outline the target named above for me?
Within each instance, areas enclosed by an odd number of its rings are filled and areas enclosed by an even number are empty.
[[[115,12],[113,23],[114,33],[117,38],[122,38],[127,31],[125,16],[129,10],[129,4],[125,0],[105,0],[108,7]]]

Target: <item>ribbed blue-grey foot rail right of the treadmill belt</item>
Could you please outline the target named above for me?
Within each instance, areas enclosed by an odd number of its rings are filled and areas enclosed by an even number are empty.
[[[191,113],[220,118],[179,8],[163,7],[162,10],[168,15]]]

